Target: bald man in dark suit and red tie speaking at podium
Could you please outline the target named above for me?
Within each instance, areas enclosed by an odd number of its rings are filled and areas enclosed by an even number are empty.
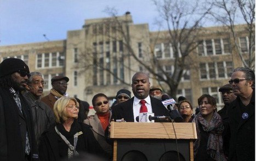
[[[155,113],[155,116],[169,116],[169,112],[162,102],[149,96],[150,82],[147,74],[137,72],[132,78],[132,90],[134,97],[119,103],[112,111],[112,119],[124,119],[127,122],[136,122],[136,117],[141,112],[141,106],[146,106],[146,111]],[[145,100],[141,102],[142,100]]]

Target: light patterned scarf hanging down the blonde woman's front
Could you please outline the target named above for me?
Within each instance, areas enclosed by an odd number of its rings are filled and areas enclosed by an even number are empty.
[[[76,133],[74,135],[74,145],[71,145],[71,143],[66,139],[66,137],[64,135],[62,135],[60,133],[60,131],[57,129],[57,126],[55,126],[55,131],[61,137],[61,139],[65,141],[65,143],[69,147],[67,149],[67,157],[70,159],[72,157],[78,156],[79,154],[76,151],[76,145],[77,145],[77,140],[78,140],[78,133]]]

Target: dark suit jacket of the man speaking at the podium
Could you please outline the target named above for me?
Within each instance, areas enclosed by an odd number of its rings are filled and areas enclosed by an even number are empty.
[[[132,97],[132,99],[130,100],[127,100],[116,105],[112,111],[112,119],[116,120],[124,118],[124,120],[126,120],[127,122],[134,122],[133,100],[134,97]],[[150,100],[152,112],[155,113],[155,116],[169,116],[167,108],[163,106],[163,103],[160,100],[155,99],[153,97],[150,97]]]

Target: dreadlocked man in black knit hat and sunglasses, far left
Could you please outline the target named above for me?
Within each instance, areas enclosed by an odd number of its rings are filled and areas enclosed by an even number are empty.
[[[21,91],[29,67],[15,58],[0,64],[0,160],[38,160],[30,106]]]

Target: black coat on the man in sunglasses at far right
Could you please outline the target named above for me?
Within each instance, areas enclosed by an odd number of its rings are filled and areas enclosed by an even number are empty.
[[[247,119],[242,119],[240,97],[228,108],[230,120],[229,160],[255,160],[255,94],[246,107]]]

